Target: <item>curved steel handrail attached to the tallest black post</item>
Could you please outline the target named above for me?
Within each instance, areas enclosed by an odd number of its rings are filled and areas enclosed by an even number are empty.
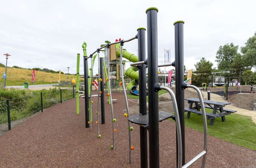
[[[182,137],[181,137],[180,117],[179,117],[179,110],[178,110],[177,101],[176,101],[174,92],[170,88],[161,86],[160,89],[169,92],[169,94],[170,94],[170,96],[172,97],[172,100],[173,100],[175,121],[176,121],[177,143],[178,143],[178,147],[177,147],[178,148],[177,167],[182,167],[182,141],[181,141]]]

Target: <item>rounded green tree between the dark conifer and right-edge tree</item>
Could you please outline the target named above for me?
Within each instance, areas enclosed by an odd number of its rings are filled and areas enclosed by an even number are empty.
[[[238,56],[238,54],[238,45],[230,43],[220,46],[216,53],[218,69],[221,71],[229,71],[234,59]]]

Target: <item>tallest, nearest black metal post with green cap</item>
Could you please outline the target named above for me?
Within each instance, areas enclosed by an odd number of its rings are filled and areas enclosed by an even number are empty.
[[[159,116],[157,90],[157,12],[157,8],[148,8],[146,10],[149,123],[148,132],[150,147],[150,167],[159,167]]]

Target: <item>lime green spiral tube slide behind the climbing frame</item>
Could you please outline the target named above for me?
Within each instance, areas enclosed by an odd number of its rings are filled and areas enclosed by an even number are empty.
[[[116,54],[117,54],[117,57],[120,57],[120,50],[118,50],[118,51],[116,51]],[[126,51],[126,50],[124,50],[123,51],[123,58],[125,58],[125,59],[127,59],[127,60],[129,60],[129,61],[131,61],[131,62],[138,62],[139,61],[139,58],[136,56],[136,55],[134,55],[134,54],[132,54],[132,53],[130,53],[130,52],[128,52],[128,51]],[[137,85],[138,85],[138,81],[139,81],[139,73],[138,72],[136,72],[138,69],[137,68],[135,68],[135,67],[130,67],[130,68],[128,68],[127,70],[126,70],[126,72],[125,72],[125,75],[127,75],[128,77],[130,77],[130,78],[132,78],[132,79],[134,79],[134,80],[132,80],[131,82],[129,82],[129,83],[127,83],[127,85],[126,85],[126,87],[127,87],[127,90],[132,94],[132,95],[136,95],[136,96],[139,96],[139,93],[138,93],[138,91],[137,91]]]

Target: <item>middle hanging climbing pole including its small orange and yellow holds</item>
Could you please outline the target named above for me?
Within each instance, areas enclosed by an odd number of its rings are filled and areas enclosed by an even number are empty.
[[[108,55],[110,54],[110,45],[107,44],[106,47],[108,48]],[[108,96],[110,97],[110,106],[111,106],[111,118],[112,118],[112,131],[113,131],[113,137],[112,137],[112,140],[113,140],[113,143],[112,145],[110,146],[111,149],[115,149],[115,122],[116,122],[116,119],[114,118],[114,111],[113,111],[113,101],[112,101],[112,93],[111,93],[111,87],[110,87],[110,83],[111,83],[111,77],[110,77],[110,57],[108,57],[109,61],[108,61],[108,77],[109,77],[109,93],[108,93]]]

